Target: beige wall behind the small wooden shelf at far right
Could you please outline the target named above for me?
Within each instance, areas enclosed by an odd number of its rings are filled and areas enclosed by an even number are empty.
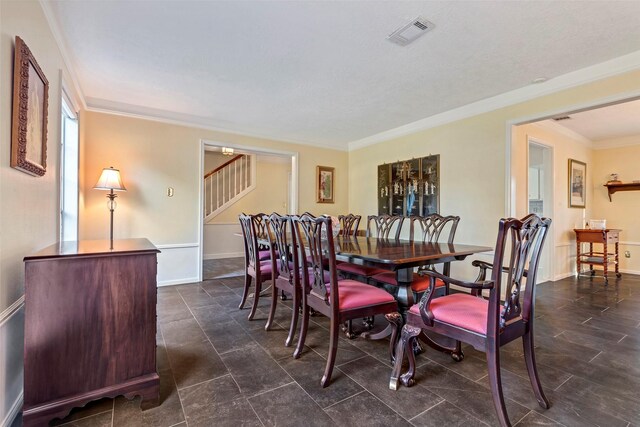
[[[611,196],[603,186],[611,173],[619,174],[622,182],[640,180],[640,135],[599,143],[625,143],[637,145],[594,151],[593,177],[593,218],[606,219],[608,228],[620,228],[620,269],[640,274],[640,192],[619,192]],[[629,251],[631,258],[625,258]]]

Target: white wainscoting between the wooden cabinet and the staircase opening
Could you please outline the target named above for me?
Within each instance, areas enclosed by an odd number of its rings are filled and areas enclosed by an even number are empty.
[[[198,281],[200,274],[197,243],[156,245],[158,254],[158,286]]]

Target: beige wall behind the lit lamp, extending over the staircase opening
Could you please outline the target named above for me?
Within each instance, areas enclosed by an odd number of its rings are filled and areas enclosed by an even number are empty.
[[[83,239],[108,235],[105,193],[92,187],[102,168],[114,166],[120,169],[128,190],[118,198],[116,237],[149,237],[158,244],[197,241],[202,139],[298,152],[299,210],[329,214],[347,210],[347,152],[95,112],[84,114],[82,126],[82,169],[87,181],[81,189],[85,205],[80,214]],[[315,202],[317,165],[336,168],[335,204]],[[168,186],[174,187],[174,197],[166,196]]]

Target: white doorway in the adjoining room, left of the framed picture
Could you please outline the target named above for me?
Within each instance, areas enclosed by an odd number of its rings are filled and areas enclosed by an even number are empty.
[[[528,142],[528,210],[542,217],[553,218],[553,147],[531,137]],[[548,241],[553,242],[553,224]],[[553,244],[543,246],[538,267],[539,282],[553,280]]]

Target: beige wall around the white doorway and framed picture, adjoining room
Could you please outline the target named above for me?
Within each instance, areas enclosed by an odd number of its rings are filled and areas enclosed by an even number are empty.
[[[514,127],[513,179],[516,191],[516,216],[523,217],[528,208],[528,140],[550,146],[553,149],[553,212],[551,234],[545,243],[545,254],[553,257],[553,274],[558,279],[575,272],[575,233],[574,228],[584,224],[584,218],[591,216],[593,206],[593,175],[589,173],[593,166],[593,150],[577,138],[538,124]],[[568,168],[569,159],[587,164],[586,209],[569,207]],[[553,248],[551,247],[553,245]]]

